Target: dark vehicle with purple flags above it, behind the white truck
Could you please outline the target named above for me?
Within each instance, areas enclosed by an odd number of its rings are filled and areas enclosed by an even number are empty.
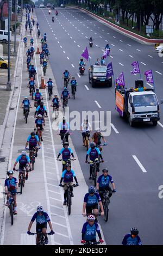
[[[104,65],[91,65],[89,68],[89,82],[92,87],[97,84],[105,84],[108,87],[112,87],[112,77],[106,78],[107,66]]]

